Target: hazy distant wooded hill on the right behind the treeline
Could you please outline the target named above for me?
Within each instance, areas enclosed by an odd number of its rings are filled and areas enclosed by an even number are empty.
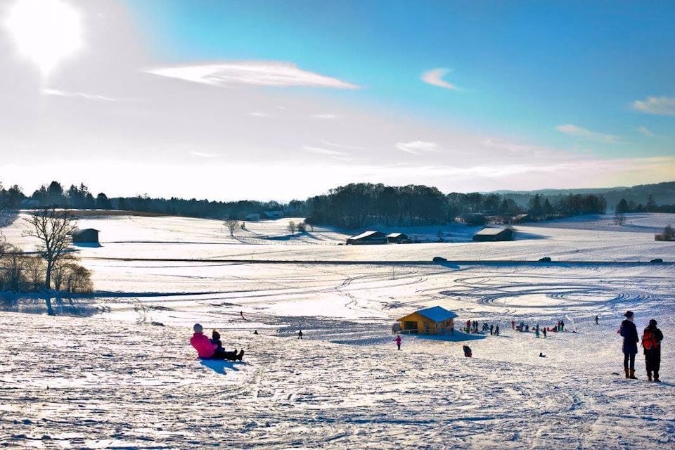
[[[602,195],[607,200],[610,210],[619,203],[622,198],[635,203],[647,203],[648,195],[652,195],[657,205],[675,204],[675,181],[667,181],[657,184],[639,184],[638,186],[626,187],[619,186],[614,188],[582,188],[582,189],[538,189],[536,191],[494,191],[493,193],[505,195],[512,198],[521,206],[527,205],[527,202],[534,195],[545,195],[546,197],[557,197],[568,194],[596,194]]]

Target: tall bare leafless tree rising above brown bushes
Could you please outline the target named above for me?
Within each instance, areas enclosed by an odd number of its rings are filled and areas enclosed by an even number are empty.
[[[75,217],[67,211],[55,208],[37,210],[25,219],[29,227],[24,236],[39,239],[37,250],[46,263],[44,287],[51,289],[51,272],[68,253],[70,235],[77,231]]]

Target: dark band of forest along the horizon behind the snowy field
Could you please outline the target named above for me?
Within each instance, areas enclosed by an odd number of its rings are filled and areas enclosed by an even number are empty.
[[[37,207],[131,210],[155,214],[208,219],[245,219],[264,211],[284,212],[286,217],[307,217],[308,224],[349,229],[374,224],[419,226],[465,221],[468,224],[544,220],[610,210],[625,212],[675,212],[675,182],[612,188],[605,192],[580,190],[534,191],[533,193],[449,193],[430,186],[385,186],[358,183],[331,189],[307,200],[217,202],[183,198],[150,198],[147,195],[110,198],[94,196],[84,184],[64,188],[58,181],[25,195],[19,186],[0,186],[0,208],[16,210]],[[593,192],[589,192],[593,191]],[[610,199],[610,200],[608,200]],[[664,203],[659,205],[658,203]],[[522,217],[527,214],[527,217]]]

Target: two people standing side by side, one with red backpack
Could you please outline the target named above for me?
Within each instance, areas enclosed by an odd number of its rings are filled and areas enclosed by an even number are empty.
[[[635,314],[626,311],[624,319],[617,333],[624,338],[622,350],[624,352],[624,373],[626,378],[637,380],[635,376],[635,355],[638,353],[638,330],[635,326]],[[651,319],[642,335],[642,347],[645,354],[645,366],[647,368],[648,381],[659,383],[659,369],[661,366],[661,341],[663,333],[657,328],[657,321]]]

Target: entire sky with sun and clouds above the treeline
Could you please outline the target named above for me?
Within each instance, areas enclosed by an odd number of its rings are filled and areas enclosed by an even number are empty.
[[[673,2],[9,0],[0,23],[0,181],[27,191],[55,170],[278,200],[675,174]]]

